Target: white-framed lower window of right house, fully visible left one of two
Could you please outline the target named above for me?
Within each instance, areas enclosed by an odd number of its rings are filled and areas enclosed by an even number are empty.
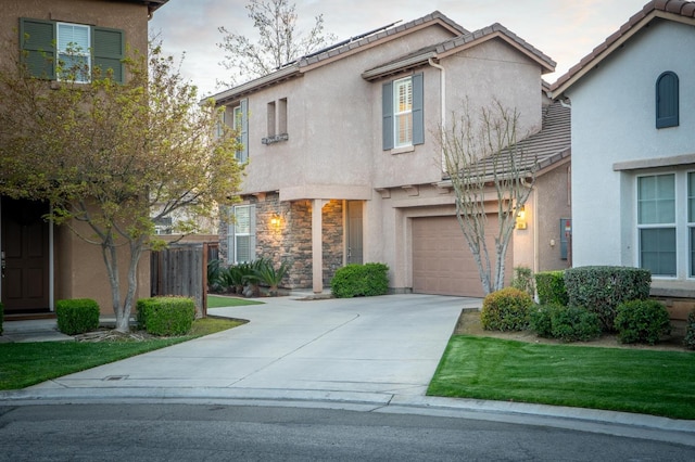
[[[637,177],[640,267],[656,277],[678,272],[675,193],[674,174]]]

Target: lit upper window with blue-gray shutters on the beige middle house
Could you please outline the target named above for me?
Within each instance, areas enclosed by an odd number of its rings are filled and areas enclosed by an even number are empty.
[[[383,84],[381,108],[384,150],[425,142],[422,100],[422,74]]]

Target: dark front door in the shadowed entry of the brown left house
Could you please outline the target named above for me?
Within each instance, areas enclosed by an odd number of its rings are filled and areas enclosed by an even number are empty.
[[[2,304],[7,313],[49,310],[48,205],[2,197]]]

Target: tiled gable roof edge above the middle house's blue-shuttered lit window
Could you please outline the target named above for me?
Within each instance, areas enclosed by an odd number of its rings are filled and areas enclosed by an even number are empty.
[[[441,59],[448,54],[456,53],[464,48],[478,44],[481,41],[485,41],[495,37],[501,37],[507,40],[529,57],[539,62],[543,66],[544,73],[549,73],[555,69],[555,61],[553,61],[549,56],[514,34],[511,30],[504,27],[502,24],[495,23],[482,29],[475,30],[472,33],[466,33],[443,42],[414,51],[404,56],[366,70],[362,76],[367,80],[374,80],[392,73],[421,66],[426,64],[430,57]]]

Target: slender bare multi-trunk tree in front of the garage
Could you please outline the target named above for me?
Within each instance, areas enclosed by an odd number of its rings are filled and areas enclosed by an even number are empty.
[[[505,257],[516,219],[535,181],[536,163],[518,143],[518,121],[519,113],[498,101],[482,107],[478,118],[466,103],[463,115],[440,130],[442,167],[485,294],[504,287]],[[492,205],[498,216],[494,234],[488,232]],[[486,234],[494,235],[492,249]]]

